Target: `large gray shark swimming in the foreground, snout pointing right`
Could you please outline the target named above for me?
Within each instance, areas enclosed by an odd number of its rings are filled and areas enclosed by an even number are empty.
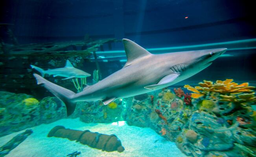
[[[74,93],[34,74],[42,84],[66,104],[72,114],[78,101],[101,100],[105,105],[117,98],[131,97],[171,86],[207,68],[227,48],[184,51],[154,55],[131,40],[123,39],[127,62],[122,69],[80,93]]]

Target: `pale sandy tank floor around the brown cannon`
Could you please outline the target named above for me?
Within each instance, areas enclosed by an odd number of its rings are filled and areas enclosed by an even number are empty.
[[[125,151],[103,152],[68,139],[47,137],[48,132],[57,125],[76,130],[115,134],[121,140]],[[154,130],[128,126],[126,123],[117,126],[103,123],[88,124],[79,119],[61,119],[31,129],[33,133],[6,157],[65,157],[75,151],[81,152],[77,157],[185,157],[174,142],[166,141]],[[0,137],[0,146],[23,131]]]

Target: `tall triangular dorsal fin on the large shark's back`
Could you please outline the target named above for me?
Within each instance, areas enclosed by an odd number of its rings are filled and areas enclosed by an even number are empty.
[[[149,51],[145,50],[143,47],[139,46],[138,44],[129,39],[123,39],[123,47],[127,57],[127,62],[125,63],[125,66],[129,66],[131,62],[133,62],[133,60],[137,58],[151,55]]]

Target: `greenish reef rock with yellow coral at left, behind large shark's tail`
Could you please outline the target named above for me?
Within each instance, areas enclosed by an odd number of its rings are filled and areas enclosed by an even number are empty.
[[[40,102],[31,95],[0,91],[0,136],[66,117],[66,108],[56,97]]]

